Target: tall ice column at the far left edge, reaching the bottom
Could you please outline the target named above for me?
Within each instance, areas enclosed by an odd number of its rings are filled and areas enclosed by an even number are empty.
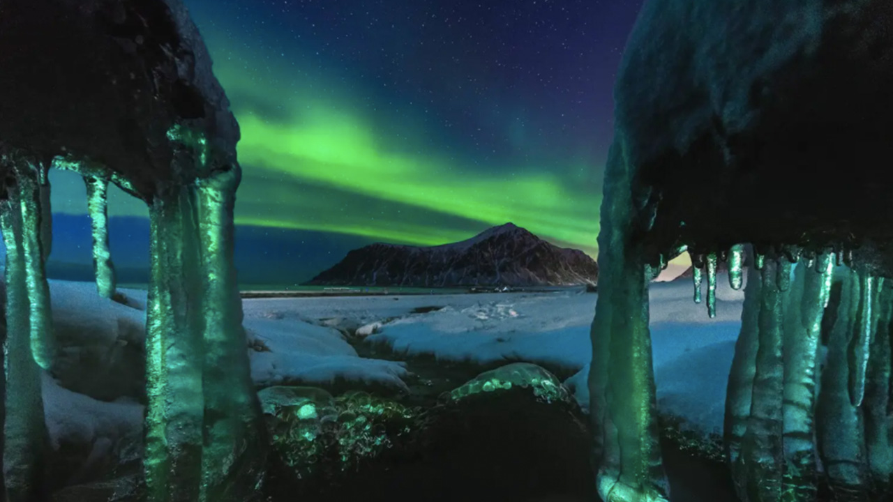
[[[29,290],[22,251],[22,222],[15,187],[0,201],[0,228],[6,246],[4,377],[4,472],[10,502],[44,499],[38,495],[41,457],[46,448],[44,402],[41,398],[40,368],[31,353]],[[3,492],[0,491],[0,494]]]

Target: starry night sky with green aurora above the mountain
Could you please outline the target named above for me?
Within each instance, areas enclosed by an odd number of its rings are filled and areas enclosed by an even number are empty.
[[[306,280],[353,247],[505,222],[597,254],[613,80],[642,0],[185,1],[242,130],[243,276],[257,256]],[[51,181],[73,244],[53,259],[89,261],[68,174]],[[146,208],[111,199],[113,254],[138,266]]]

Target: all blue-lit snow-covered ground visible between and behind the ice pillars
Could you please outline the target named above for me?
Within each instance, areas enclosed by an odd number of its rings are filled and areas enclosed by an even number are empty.
[[[705,305],[692,302],[689,281],[651,287],[658,406],[701,432],[722,431],[725,386],[743,301],[743,291],[731,290],[724,276],[718,283],[718,315],[713,320]],[[124,290],[133,300],[133,306],[125,306],[98,297],[89,283],[53,280],[51,290],[56,329],[65,333],[70,355],[79,346],[92,355],[71,357],[72,364],[84,360],[79,372],[100,371],[96,360],[113,366],[115,357],[124,357],[122,347],[141,344],[145,291]],[[369,333],[369,341],[387,345],[397,358],[432,355],[481,364],[521,360],[578,371],[567,384],[586,406],[595,303],[596,295],[579,291],[261,298],[244,302],[244,324],[252,377],[259,386],[353,381],[405,391],[405,364],[358,356],[342,332],[348,326],[361,327],[359,332]],[[442,308],[413,314],[430,310],[423,307]],[[138,427],[143,409],[132,397],[98,400],[63,389],[66,386],[71,387],[66,381],[44,382],[46,420],[55,445],[71,436],[103,443]]]

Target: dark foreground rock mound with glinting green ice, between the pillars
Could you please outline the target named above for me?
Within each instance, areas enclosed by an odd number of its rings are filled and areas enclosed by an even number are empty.
[[[268,500],[593,499],[588,428],[579,407],[545,370],[509,366],[526,372],[484,373],[430,409],[318,393],[280,407],[268,415],[279,441]],[[331,418],[314,418],[325,406]],[[298,415],[328,425],[301,426]],[[306,445],[319,430],[326,433],[313,439],[325,447],[313,452],[317,470],[290,465],[296,451],[289,445]]]

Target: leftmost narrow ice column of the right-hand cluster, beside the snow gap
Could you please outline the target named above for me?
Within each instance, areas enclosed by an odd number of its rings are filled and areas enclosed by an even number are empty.
[[[740,457],[741,443],[747,432],[747,420],[754,392],[756,352],[759,348],[759,315],[761,308],[762,277],[751,264],[747,270],[744,289],[744,308],[741,311],[741,330],[735,342],[735,356],[726,389],[723,444],[729,461],[731,478],[741,500],[747,501],[747,464]]]

